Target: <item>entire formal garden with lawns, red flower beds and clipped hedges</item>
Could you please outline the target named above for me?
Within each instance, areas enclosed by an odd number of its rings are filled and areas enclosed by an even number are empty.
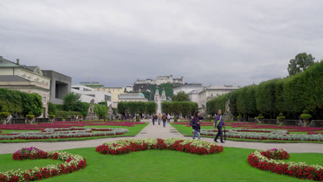
[[[217,109],[225,110],[226,99],[231,99],[235,119],[225,122],[227,143],[223,145],[209,142],[213,141],[217,130],[208,118],[201,123],[201,141],[191,139],[192,127],[184,119],[170,122],[175,128],[172,131],[184,137],[161,139],[156,134],[152,138],[138,139],[136,136],[143,133],[144,128],[149,132],[151,121],[107,121],[104,118],[107,105],[104,104],[95,105],[101,119],[73,120],[71,115],[80,118],[86,115],[88,104],[72,101],[77,98],[70,94],[66,99],[69,103],[49,107],[51,119],[63,118],[61,121],[0,125],[0,147],[19,145],[19,150],[11,154],[0,154],[0,182],[323,181],[322,68],[322,62],[315,63],[295,76],[251,85],[209,101],[206,106],[208,114],[212,115]],[[19,112],[31,121],[42,113],[41,98],[36,94],[0,89],[0,100],[2,118],[8,112]],[[118,108],[124,114],[151,114],[156,108],[156,105],[145,105],[122,103]],[[189,115],[197,107],[188,101],[161,106],[164,112],[175,115]],[[286,121],[299,116],[297,121],[302,121],[302,125],[290,125]],[[307,120],[308,125],[304,125]],[[167,128],[153,127],[168,132]],[[30,142],[50,142],[55,146],[58,142],[94,139],[101,139],[100,144],[91,148],[56,151],[35,148],[32,144],[23,147]],[[235,142],[260,146],[284,143],[286,147],[293,145],[300,150],[315,145],[321,146],[322,152],[293,153],[284,148],[255,150],[226,146]]]

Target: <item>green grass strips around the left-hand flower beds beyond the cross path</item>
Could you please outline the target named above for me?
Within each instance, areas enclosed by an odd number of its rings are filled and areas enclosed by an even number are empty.
[[[140,124],[140,125],[135,125],[133,127],[130,126],[119,126],[119,125],[86,125],[84,128],[126,128],[129,130],[128,133],[126,134],[120,134],[120,135],[112,135],[112,136],[93,136],[93,137],[83,137],[83,138],[69,138],[69,139],[37,139],[37,140],[1,140],[0,143],[19,143],[19,142],[34,142],[34,141],[43,141],[43,142],[57,142],[57,141],[84,141],[84,140],[93,140],[93,139],[104,139],[104,138],[109,138],[109,137],[120,137],[120,136],[135,136],[137,135],[143,128],[146,127],[148,123]],[[10,133],[7,132],[6,130],[1,130],[3,133]],[[37,131],[37,130],[8,130],[11,132],[32,132],[32,131]]]

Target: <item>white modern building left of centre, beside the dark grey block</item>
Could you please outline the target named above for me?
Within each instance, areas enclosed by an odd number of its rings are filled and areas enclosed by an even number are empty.
[[[90,103],[92,99],[95,99],[95,103],[101,103],[107,101],[108,105],[112,104],[113,94],[106,91],[97,91],[94,88],[87,87],[85,85],[72,85],[72,92],[81,94],[81,101]]]

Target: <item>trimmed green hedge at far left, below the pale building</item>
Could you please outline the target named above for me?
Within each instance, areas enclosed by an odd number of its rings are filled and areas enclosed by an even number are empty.
[[[39,94],[0,88],[0,110],[6,110],[11,114],[17,112],[19,115],[32,112],[39,117],[43,113],[43,103]]]

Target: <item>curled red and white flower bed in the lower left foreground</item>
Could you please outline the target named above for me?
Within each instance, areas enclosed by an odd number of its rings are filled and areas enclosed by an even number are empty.
[[[35,167],[32,170],[10,170],[0,172],[0,181],[15,182],[15,181],[35,181],[40,179],[58,176],[60,174],[68,174],[78,171],[86,167],[86,159],[82,156],[70,154],[68,152],[44,152],[37,148],[22,148],[12,155],[14,160],[26,159],[54,159],[64,161],[57,165],[48,165],[44,168]]]

